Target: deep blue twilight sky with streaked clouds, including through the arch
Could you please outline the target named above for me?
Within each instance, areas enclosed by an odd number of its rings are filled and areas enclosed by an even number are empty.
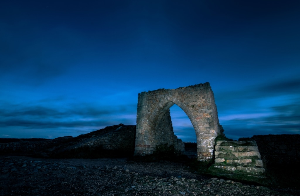
[[[299,1],[4,1],[0,137],[136,124],[138,93],[210,82],[232,139],[300,133]],[[176,135],[196,141],[176,106]]]

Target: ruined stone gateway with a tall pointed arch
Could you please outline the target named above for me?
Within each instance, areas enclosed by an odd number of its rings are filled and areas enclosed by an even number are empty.
[[[208,82],[139,93],[134,155],[152,154],[166,144],[173,145],[177,152],[184,149],[173,132],[170,117],[173,104],[187,114],[195,129],[198,160],[211,161],[220,129],[214,94]]]

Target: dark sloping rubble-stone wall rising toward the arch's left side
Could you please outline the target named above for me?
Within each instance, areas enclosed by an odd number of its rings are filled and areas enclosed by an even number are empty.
[[[90,132],[77,137],[59,137],[52,140],[36,142],[9,142],[0,143],[1,154],[20,154],[37,157],[56,157],[66,154],[67,157],[73,156],[68,154],[72,150],[80,151],[88,148],[103,149],[107,151],[123,153],[124,156],[131,156],[134,152],[135,141],[134,125],[114,125],[98,131]],[[97,153],[97,152],[96,152]],[[77,157],[75,155],[75,157]],[[113,156],[112,156],[113,157]]]

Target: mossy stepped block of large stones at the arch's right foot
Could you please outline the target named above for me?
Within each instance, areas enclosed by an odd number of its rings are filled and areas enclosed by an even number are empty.
[[[217,173],[261,176],[265,173],[255,141],[217,141],[214,152]]]

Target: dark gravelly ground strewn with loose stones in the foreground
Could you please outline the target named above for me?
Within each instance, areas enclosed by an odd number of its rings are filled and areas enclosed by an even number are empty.
[[[0,195],[300,195],[199,175],[179,162],[0,157]]]

